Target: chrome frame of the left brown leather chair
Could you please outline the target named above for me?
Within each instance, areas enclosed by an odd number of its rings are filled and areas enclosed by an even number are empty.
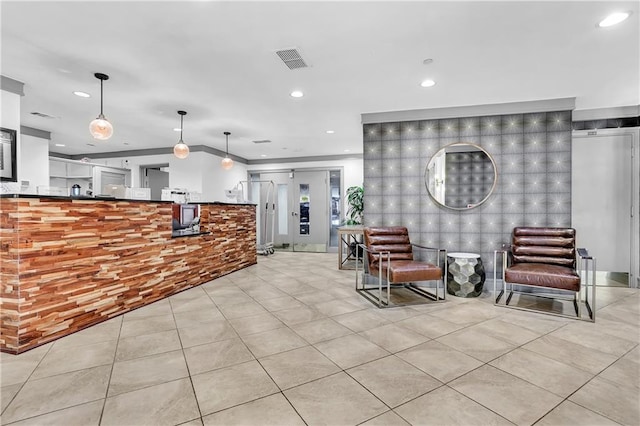
[[[439,301],[444,301],[446,299],[447,296],[447,287],[446,287],[446,282],[445,280],[447,279],[447,250],[445,249],[438,249],[438,248],[433,248],[433,247],[425,247],[419,244],[414,244],[414,243],[410,243],[412,247],[421,249],[421,250],[426,250],[426,251],[433,251],[436,252],[436,263],[438,266],[440,266],[440,254],[444,253],[444,268],[442,269],[442,278],[440,280],[436,280],[436,289],[435,289],[435,294],[427,291],[426,289],[420,288],[417,285],[415,285],[413,282],[391,282],[390,279],[390,274],[389,274],[389,270],[391,267],[391,252],[389,251],[375,251],[372,250],[370,248],[368,248],[365,244],[358,244],[358,246],[363,250],[362,254],[363,254],[363,259],[362,262],[359,262],[359,256],[360,256],[360,251],[356,250],[356,291],[362,295],[365,299],[367,299],[369,302],[373,303],[375,306],[377,306],[378,308],[391,308],[391,307],[396,307],[396,306],[408,306],[408,305],[413,305],[415,303],[405,303],[405,304],[393,304],[391,303],[391,289],[392,288],[406,288],[408,290],[413,291],[414,293],[425,297],[427,299],[439,302]],[[378,273],[376,274],[378,277],[378,282],[377,282],[377,286],[371,286],[371,287],[367,287],[367,284],[365,283],[366,281],[366,277],[367,276],[375,276],[374,274],[371,273],[371,271],[369,270],[369,262],[366,261],[366,257],[367,257],[367,253],[371,253],[373,256],[378,256]],[[387,263],[387,274],[386,277],[384,276],[384,274],[382,273],[382,263],[386,262]],[[362,285],[359,285],[359,276],[360,276],[360,269],[358,267],[358,265],[360,265],[360,263],[362,263],[363,267],[362,267]],[[382,297],[383,294],[383,281],[386,282],[386,299]],[[438,283],[442,282],[442,297],[440,297],[439,295],[439,285]],[[377,295],[372,294],[371,292],[375,292],[377,290]]]

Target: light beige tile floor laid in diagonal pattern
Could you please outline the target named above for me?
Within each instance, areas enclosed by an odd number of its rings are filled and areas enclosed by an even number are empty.
[[[335,254],[276,253],[24,354],[2,424],[640,424],[640,292],[595,324],[485,292],[380,310]],[[492,288],[487,283],[487,288]]]

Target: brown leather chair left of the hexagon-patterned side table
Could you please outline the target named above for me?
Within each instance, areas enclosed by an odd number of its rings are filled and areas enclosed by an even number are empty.
[[[359,261],[356,260],[356,291],[379,308],[398,306],[391,303],[391,289],[402,287],[432,300],[444,300],[446,289],[444,277],[446,273],[446,250],[430,248],[412,244],[409,232],[404,226],[367,227],[364,228],[363,249],[364,273],[362,283],[358,281],[360,271]],[[415,260],[413,248],[419,248],[435,253],[436,264]],[[444,254],[441,257],[441,253]],[[440,260],[443,260],[441,268]],[[377,278],[374,286],[368,285],[368,278]],[[418,281],[436,281],[435,293],[419,287]],[[386,284],[383,287],[383,282]],[[439,283],[442,282],[442,297],[440,297]],[[386,297],[383,297],[383,288]]]

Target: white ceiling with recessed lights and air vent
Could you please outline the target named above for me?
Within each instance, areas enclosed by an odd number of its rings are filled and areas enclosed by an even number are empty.
[[[246,159],[361,153],[361,113],[562,97],[576,109],[640,104],[639,4],[3,0],[1,72],[25,83],[22,125],[50,131],[60,153],[171,147],[179,109],[187,144],[224,150],[230,131],[229,151]],[[632,15],[596,27],[618,10]],[[276,56],[291,47],[309,68]],[[110,76],[108,141],[88,132],[95,72]],[[437,84],[420,87],[426,78]],[[252,143],[261,139],[272,143]]]

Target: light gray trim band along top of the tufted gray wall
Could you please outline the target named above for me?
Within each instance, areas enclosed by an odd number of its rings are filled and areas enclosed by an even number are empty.
[[[575,109],[575,107],[576,98],[558,98],[538,101],[507,102],[502,104],[414,109],[408,111],[372,112],[361,114],[361,117],[362,124],[370,124],[396,121],[567,111],[573,110]]]

